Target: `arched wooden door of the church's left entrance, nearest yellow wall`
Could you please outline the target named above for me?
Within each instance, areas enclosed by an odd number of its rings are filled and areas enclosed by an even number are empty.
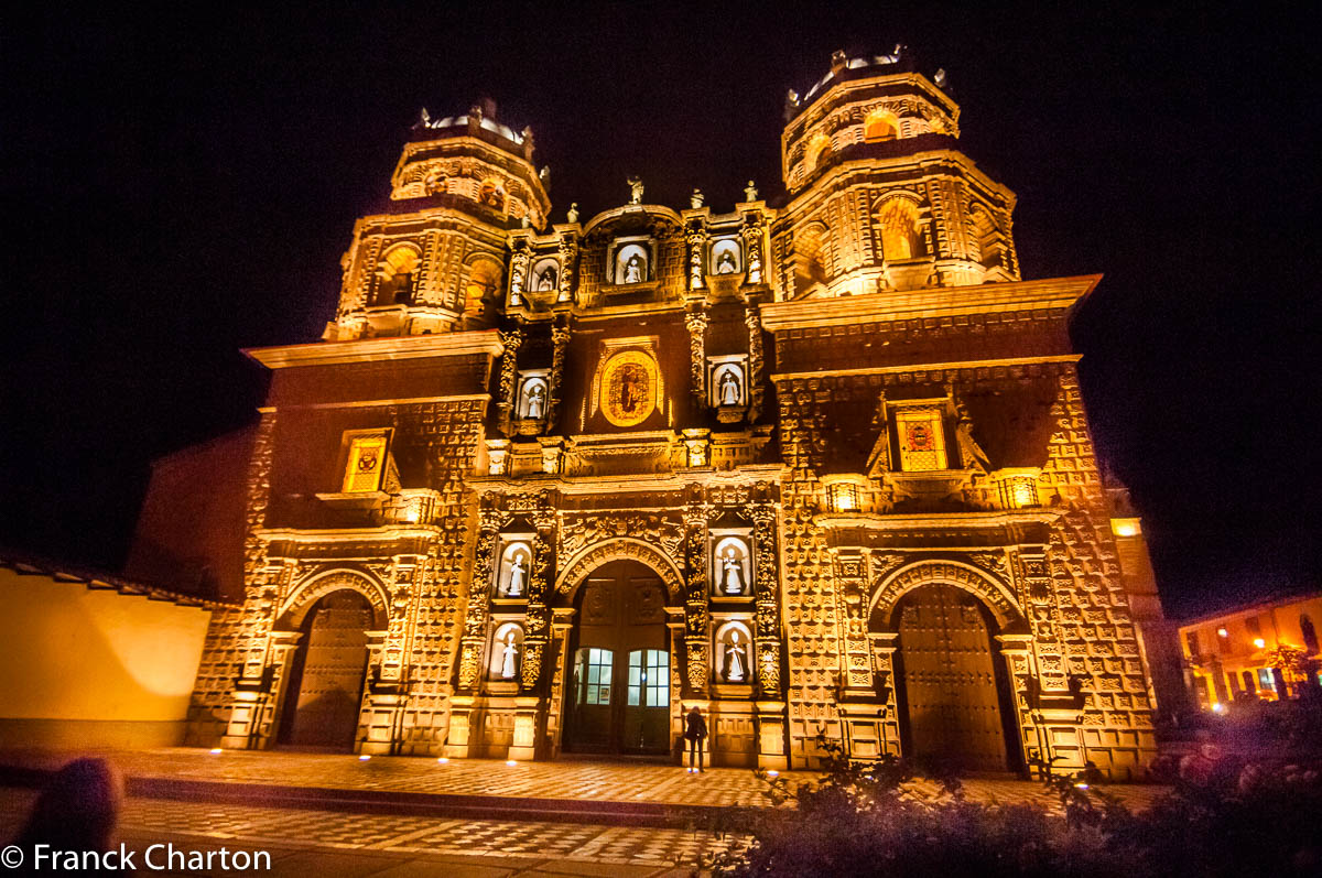
[[[332,591],[308,611],[286,686],[282,744],[353,751],[371,619],[366,598],[352,588]]]

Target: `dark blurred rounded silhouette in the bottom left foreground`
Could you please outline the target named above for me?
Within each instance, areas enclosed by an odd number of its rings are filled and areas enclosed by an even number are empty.
[[[36,845],[52,850],[111,850],[124,781],[104,759],[75,759],[56,772],[32,805],[15,841],[30,857]]]

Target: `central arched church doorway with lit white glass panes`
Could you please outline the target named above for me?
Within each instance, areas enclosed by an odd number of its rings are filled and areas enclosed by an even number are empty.
[[[566,670],[566,751],[669,752],[665,598],[661,577],[636,561],[612,561],[583,582]]]

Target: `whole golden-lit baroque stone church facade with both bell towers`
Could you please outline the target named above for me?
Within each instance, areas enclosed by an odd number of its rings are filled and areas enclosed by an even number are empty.
[[[527,130],[423,112],[246,469],[189,743],[1021,771],[1154,752],[1071,352],[944,77],[846,58],[787,193],[550,220]],[[621,188],[621,197],[624,189]],[[566,214],[561,214],[566,216]]]

